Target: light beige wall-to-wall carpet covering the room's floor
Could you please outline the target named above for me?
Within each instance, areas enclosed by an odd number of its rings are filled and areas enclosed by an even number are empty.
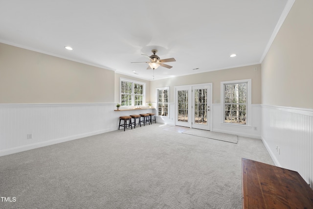
[[[241,158],[273,164],[261,140],[228,143],[153,124],[0,157],[13,209],[240,209]]]

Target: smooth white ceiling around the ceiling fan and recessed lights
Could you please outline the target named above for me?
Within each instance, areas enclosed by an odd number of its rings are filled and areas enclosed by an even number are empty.
[[[161,79],[259,64],[287,1],[0,0],[0,42],[147,80],[157,49]]]

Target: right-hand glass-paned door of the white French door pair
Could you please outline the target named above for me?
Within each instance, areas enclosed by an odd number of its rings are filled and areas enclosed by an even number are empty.
[[[192,86],[192,128],[210,130],[210,86]]]

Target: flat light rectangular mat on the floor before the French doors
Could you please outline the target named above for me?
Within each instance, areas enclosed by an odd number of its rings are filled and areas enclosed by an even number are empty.
[[[204,137],[208,139],[216,139],[216,140],[231,142],[235,144],[238,142],[237,135],[233,135],[233,134],[224,134],[224,133],[218,133],[218,132],[212,132],[212,131],[206,131],[206,130],[194,129],[194,128],[186,130],[182,133],[197,136],[197,137]]]

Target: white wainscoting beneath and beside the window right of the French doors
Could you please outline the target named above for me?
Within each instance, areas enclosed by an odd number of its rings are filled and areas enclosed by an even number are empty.
[[[242,137],[249,137],[255,139],[261,139],[261,105],[251,105],[251,121],[247,126],[244,125],[233,125],[222,123],[222,111],[221,104],[213,104],[211,108],[212,118],[212,131],[221,132],[226,134],[235,134]]]

